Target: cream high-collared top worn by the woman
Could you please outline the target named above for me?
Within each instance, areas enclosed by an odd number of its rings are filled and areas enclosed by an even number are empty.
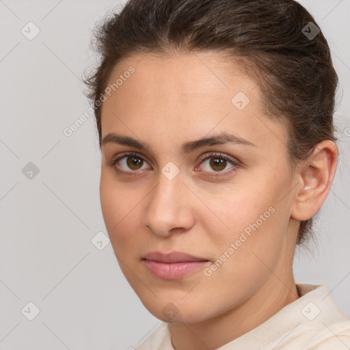
[[[299,299],[217,350],[349,350],[350,319],[326,285],[297,284]],[[162,322],[136,350],[175,350]]]

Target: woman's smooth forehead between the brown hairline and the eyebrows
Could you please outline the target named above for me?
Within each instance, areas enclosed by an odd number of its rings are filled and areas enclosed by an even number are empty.
[[[128,135],[152,130],[148,137],[159,131],[163,141],[178,141],[234,131],[254,144],[273,133],[286,137],[285,128],[263,116],[255,81],[217,53],[123,59],[107,86],[113,84],[102,107],[103,136],[121,129]]]

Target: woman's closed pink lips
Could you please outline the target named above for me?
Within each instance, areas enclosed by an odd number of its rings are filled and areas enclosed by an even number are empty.
[[[192,274],[209,260],[198,258],[183,252],[150,252],[142,257],[146,269],[157,278],[163,280],[178,280]]]

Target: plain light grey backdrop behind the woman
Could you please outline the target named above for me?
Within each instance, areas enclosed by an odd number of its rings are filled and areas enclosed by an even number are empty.
[[[80,77],[94,63],[91,29],[118,3],[0,0],[0,349],[131,349],[159,324],[111,244],[98,250],[91,241],[107,234],[93,117],[63,133],[89,107]],[[323,30],[340,77],[340,159],[315,226],[317,245],[297,252],[295,279],[329,285],[350,317],[350,1],[301,3]],[[21,32],[35,33],[29,21],[40,29],[33,40]],[[32,321],[29,301],[40,309]]]

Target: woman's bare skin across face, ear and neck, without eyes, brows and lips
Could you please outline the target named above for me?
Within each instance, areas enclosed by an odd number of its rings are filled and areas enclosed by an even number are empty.
[[[291,167],[285,124],[265,116],[254,81],[217,53],[129,57],[109,83],[129,66],[133,75],[103,103],[102,137],[118,133],[152,148],[102,146],[105,225],[129,284],[155,317],[170,323],[174,348],[217,349],[299,297],[292,269],[299,220],[312,217],[324,202],[337,148],[322,142]],[[241,111],[231,102],[239,91],[250,98]],[[255,146],[219,144],[181,153],[183,142],[223,131]],[[118,174],[118,164],[108,163],[122,152],[138,152],[143,163],[130,167],[125,157],[119,168],[126,174]],[[215,171],[215,155],[200,161],[212,152],[238,166],[227,162]],[[180,171],[172,180],[161,172],[170,161]],[[274,213],[210,276],[200,269],[162,280],[144,266],[147,252],[180,251],[211,267],[271,207]],[[170,302],[178,312],[172,319],[162,312]]]

